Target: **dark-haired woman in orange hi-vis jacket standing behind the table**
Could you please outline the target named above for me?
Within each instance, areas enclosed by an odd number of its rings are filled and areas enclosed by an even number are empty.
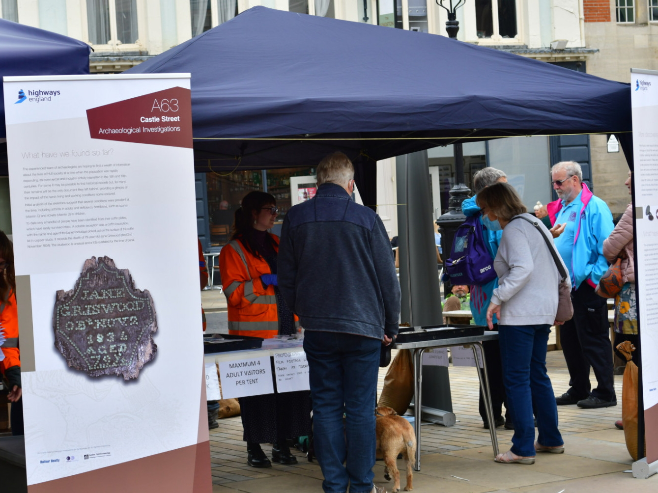
[[[228,300],[228,330],[234,335],[270,338],[297,331],[295,316],[279,293],[276,257],[279,239],[268,233],[278,214],[272,195],[249,192],[236,210],[231,241],[219,254],[222,287]],[[286,438],[311,432],[308,390],[240,398],[247,463],[270,467],[261,443],[273,443],[272,461],[297,463]]]

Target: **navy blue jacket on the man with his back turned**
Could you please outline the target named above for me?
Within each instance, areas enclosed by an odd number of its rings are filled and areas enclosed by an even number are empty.
[[[323,183],[290,209],[279,243],[278,283],[307,331],[382,339],[397,334],[400,285],[379,216]]]

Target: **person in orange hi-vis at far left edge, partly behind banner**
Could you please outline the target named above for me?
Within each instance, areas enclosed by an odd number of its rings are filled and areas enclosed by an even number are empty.
[[[0,371],[5,383],[9,384],[7,398],[12,403],[11,433],[18,435],[23,434],[23,400],[20,384],[14,247],[3,231],[0,231],[0,331],[5,337],[5,342],[0,346],[5,356],[0,362]]]

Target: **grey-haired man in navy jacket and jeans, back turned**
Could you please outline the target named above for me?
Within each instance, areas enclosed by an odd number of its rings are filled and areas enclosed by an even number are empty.
[[[400,314],[386,229],[351,199],[353,177],[343,153],[320,161],[318,191],[286,214],[279,244],[279,289],[305,330],[326,493],[384,491],[372,484],[374,405],[380,348],[395,339]]]

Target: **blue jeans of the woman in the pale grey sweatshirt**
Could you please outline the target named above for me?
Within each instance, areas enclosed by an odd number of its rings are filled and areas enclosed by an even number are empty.
[[[550,325],[498,327],[505,394],[514,419],[512,452],[522,457],[535,455],[533,409],[537,417],[537,441],[547,447],[563,445],[557,429],[555,394],[546,373]]]

